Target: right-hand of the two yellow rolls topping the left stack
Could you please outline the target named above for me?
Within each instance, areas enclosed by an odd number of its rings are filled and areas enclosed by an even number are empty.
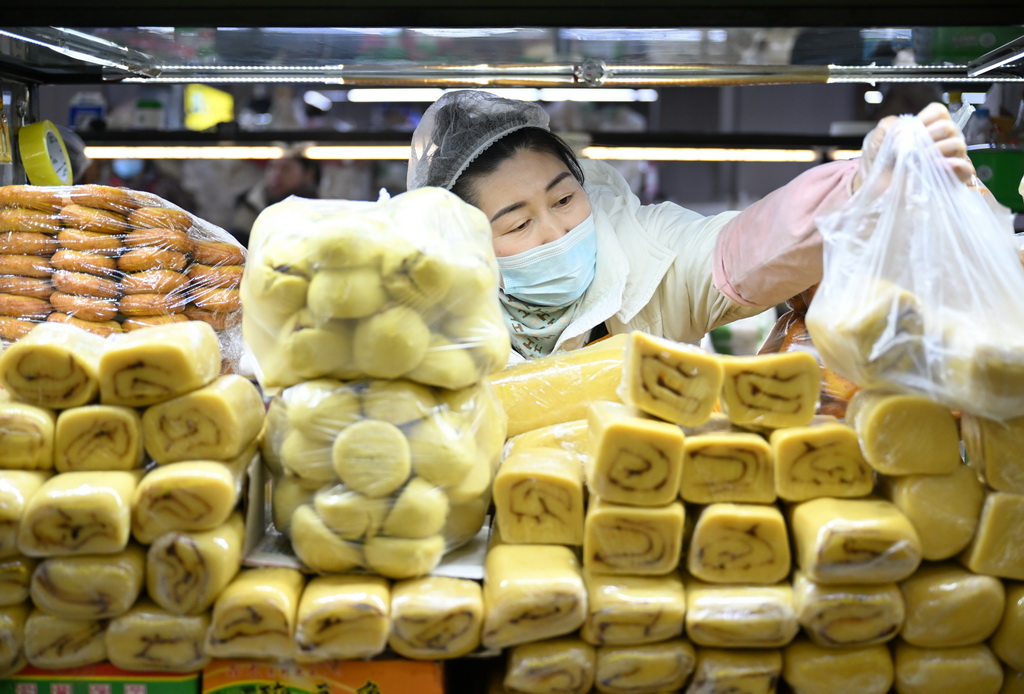
[[[202,320],[118,335],[99,359],[99,399],[127,407],[170,400],[217,378],[220,357],[217,334]]]

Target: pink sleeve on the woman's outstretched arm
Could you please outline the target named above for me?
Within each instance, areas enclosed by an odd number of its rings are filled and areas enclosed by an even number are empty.
[[[816,166],[726,222],[715,246],[715,287],[736,303],[772,306],[818,283],[814,220],[850,199],[856,171],[856,161]]]

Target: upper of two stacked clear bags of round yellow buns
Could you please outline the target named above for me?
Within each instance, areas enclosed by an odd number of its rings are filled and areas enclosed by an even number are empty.
[[[443,189],[290,198],[249,250],[242,329],[268,392],[318,378],[459,389],[508,359],[490,225]]]

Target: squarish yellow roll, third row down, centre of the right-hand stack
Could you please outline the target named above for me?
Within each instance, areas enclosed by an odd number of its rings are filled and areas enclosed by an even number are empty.
[[[776,583],[790,573],[782,513],[774,506],[712,504],[693,526],[686,566],[710,583]]]

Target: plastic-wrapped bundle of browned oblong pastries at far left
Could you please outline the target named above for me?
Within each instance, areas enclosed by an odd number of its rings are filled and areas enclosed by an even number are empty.
[[[0,339],[42,321],[97,335],[202,320],[226,365],[242,354],[246,250],[150,192],[106,185],[0,186]]]

